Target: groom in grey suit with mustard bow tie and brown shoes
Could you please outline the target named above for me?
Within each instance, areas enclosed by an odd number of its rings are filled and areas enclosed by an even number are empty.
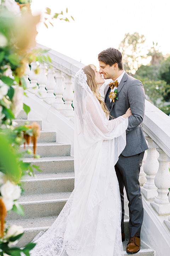
[[[122,241],[125,240],[123,192],[125,187],[129,201],[130,217],[130,240],[126,251],[134,254],[140,250],[140,231],[143,222],[142,196],[138,179],[144,152],[148,149],[141,128],[145,112],[145,91],[141,81],[129,76],[125,70],[123,70],[122,54],[119,50],[114,48],[103,50],[98,54],[98,60],[100,74],[103,74],[104,79],[113,80],[104,89],[104,101],[106,102],[111,116],[113,118],[122,116],[129,107],[132,112],[132,116],[128,118],[129,124],[126,130],[126,146],[115,165],[115,171],[119,181],[121,196]]]

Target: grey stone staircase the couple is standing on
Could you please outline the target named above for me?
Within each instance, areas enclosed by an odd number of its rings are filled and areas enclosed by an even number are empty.
[[[23,111],[15,120],[18,124],[24,124],[26,121],[27,116]],[[33,120],[29,122],[32,123]],[[42,128],[42,121],[37,122]],[[37,154],[41,156],[40,159],[24,158],[24,161],[38,165],[42,170],[42,172],[35,170],[35,177],[24,176],[22,178],[24,193],[19,203],[24,207],[25,215],[20,216],[11,212],[7,217],[7,224],[24,227],[24,235],[18,242],[20,247],[32,241],[40,231],[46,231],[52,225],[74,189],[74,159],[70,156],[69,144],[57,143],[56,132],[41,130]],[[129,241],[128,223],[129,218],[126,216],[122,255],[128,255],[126,253]],[[141,242],[141,250],[137,255],[154,256],[155,254],[148,245]]]

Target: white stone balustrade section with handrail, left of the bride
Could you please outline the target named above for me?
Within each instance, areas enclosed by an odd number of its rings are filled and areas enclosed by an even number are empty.
[[[37,44],[37,48],[48,49],[39,44]],[[31,63],[30,72],[28,73],[27,70],[26,78],[29,75],[30,79],[27,88],[60,111],[65,117],[73,117],[73,80],[77,71],[84,65],[51,49],[47,54],[52,60],[51,65],[40,63],[39,74],[34,72],[38,64],[36,62]],[[26,80],[28,81],[28,79]]]

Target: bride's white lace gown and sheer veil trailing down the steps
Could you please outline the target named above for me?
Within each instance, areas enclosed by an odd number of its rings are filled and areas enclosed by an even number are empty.
[[[121,255],[121,203],[114,165],[128,118],[108,121],[81,69],[75,76],[75,188],[31,256]]]

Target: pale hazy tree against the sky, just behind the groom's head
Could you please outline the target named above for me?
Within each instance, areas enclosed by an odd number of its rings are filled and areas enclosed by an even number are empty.
[[[142,54],[145,36],[135,32],[133,34],[125,34],[124,39],[120,42],[119,50],[123,55],[123,61],[126,64],[126,71],[132,74],[140,66],[142,59],[146,59],[147,55]]]

